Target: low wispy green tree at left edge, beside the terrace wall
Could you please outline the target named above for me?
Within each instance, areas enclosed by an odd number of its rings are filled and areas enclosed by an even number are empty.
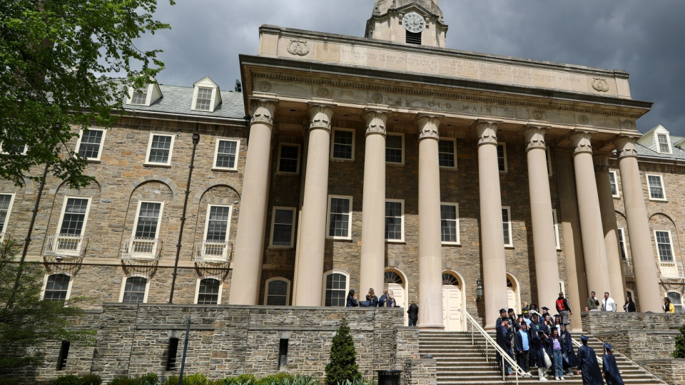
[[[0,369],[41,364],[40,346],[50,341],[90,344],[94,331],[70,330],[71,322],[84,316],[76,304],[85,301],[75,297],[66,302],[42,301],[44,268],[37,262],[25,262],[22,279],[16,288],[19,264],[14,257],[14,241],[0,244]],[[9,304],[9,299],[16,300]]]

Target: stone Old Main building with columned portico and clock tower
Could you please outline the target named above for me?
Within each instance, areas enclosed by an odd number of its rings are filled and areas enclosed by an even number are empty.
[[[242,92],[131,91],[73,143],[95,181],[46,185],[44,297],[336,307],[387,287],[448,330],[559,291],[574,325],[590,290],[682,311],[685,138],[639,133],[651,103],[624,71],[446,34],[437,0],[377,0],[365,38],[263,26]],[[26,236],[37,188],[0,183],[4,237]]]

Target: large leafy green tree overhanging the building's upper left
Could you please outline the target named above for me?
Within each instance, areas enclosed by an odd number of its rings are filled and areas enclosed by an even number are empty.
[[[174,4],[170,0],[170,4]],[[128,87],[163,69],[159,50],[134,41],[169,29],[157,0],[0,1],[0,178],[24,185],[34,165],[69,187],[87,185],[86,160],[68,142],[91,125],[110,128]],[[23,155],[22,153],[26,153]]]

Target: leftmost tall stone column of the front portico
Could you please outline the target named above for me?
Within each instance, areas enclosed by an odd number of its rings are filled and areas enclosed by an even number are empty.
[[[228,304],[258,304],[269,190],[271,131],[276,101],[253,99],[238,234]]]

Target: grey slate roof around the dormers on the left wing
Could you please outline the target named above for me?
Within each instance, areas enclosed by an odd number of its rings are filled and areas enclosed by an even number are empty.
[[[193,87],[159,85],[162,97],[151,106],[132,106],[124,101],[126,111],[150,111],[162,113],[177,113],[188,116],[211,116],[213,118],[243,119],[245,105],[243,93],[235,91],[220,91],[221,104],[214,108],[214,112],[193,111]]]

